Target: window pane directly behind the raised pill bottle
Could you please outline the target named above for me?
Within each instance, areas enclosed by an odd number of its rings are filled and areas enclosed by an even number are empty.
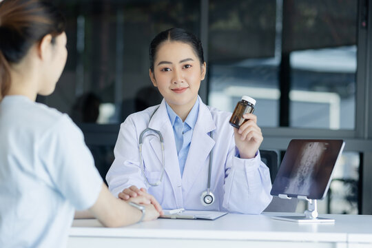
[[[232,112],[257,100],[259,124],[278,126],[276,1],[209,1],[209,105]],[[280,45],[280,43],[279,43]]]

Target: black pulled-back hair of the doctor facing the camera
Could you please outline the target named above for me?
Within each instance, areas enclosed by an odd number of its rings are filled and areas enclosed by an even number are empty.
[[[170,28],[169,30],[160,32],[150,43],[149,60],[150,70],[152,72],[154,72],[154,62],[156,58],[156,53],[158,52],[158,47],[164,41],[178,41],[189,44],[194,50],[196,56],[198,56],[200,64],[204,63],[203,46],[198,37],[196,37],[194,34],[190,32],[187,32],[182,28]]]

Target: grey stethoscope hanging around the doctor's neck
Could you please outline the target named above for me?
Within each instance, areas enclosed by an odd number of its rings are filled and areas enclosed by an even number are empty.
[[[158,110],[158,107],[156,108],[156,110]],[[149,118],[150,121],[151,121],[152,116],[154,116],[156,110],[150,116],[150,118]],[[162,152],[162,155],[163,155],[162,156],[163,159],[162,159],[161,176],[155,183],[150,183],[149,180],[147,179],[147,177],[145,175],[145,167],[143,166],[143,157],[142,157],[143,137],[145,136],[145,134],[147,132],[150,132],[150,131],[154,132],[154,134],[149,134],[148,136],[156,136],[156,134],[157,134],[156,137],[159,139],[159,141],[161,143],[161,152]],[[212,132],[209,132],[209,136],[211,136],[211,138],[213,138]],[[138,145],[139,145],[139,156],[140,156],[140,164],[141,164],[141,170],[142,170],[143,177],[145,178],[146,182],[150,186],[160,185],[161,182],[163,181],[164,171],[165,171],[165,155],[164,155],[163,135],[161,135],[160,131],[153,130],[152,128],[147,127],[145,130],[143,130],[141,132],[141,134],[139,136],[139,139],[138,139]],[[209,152],[209,168],[208,168],[207,190],[205,190],[205,192],[203,192],[200,196],[200,201],[204,206],[209,206],[209,205],[212,205],[214,203],[214,194],[210,190],[211,189],[211,161],[212,161],[212,158],[213,158],[213,149],[211,149],[211,152]]]

